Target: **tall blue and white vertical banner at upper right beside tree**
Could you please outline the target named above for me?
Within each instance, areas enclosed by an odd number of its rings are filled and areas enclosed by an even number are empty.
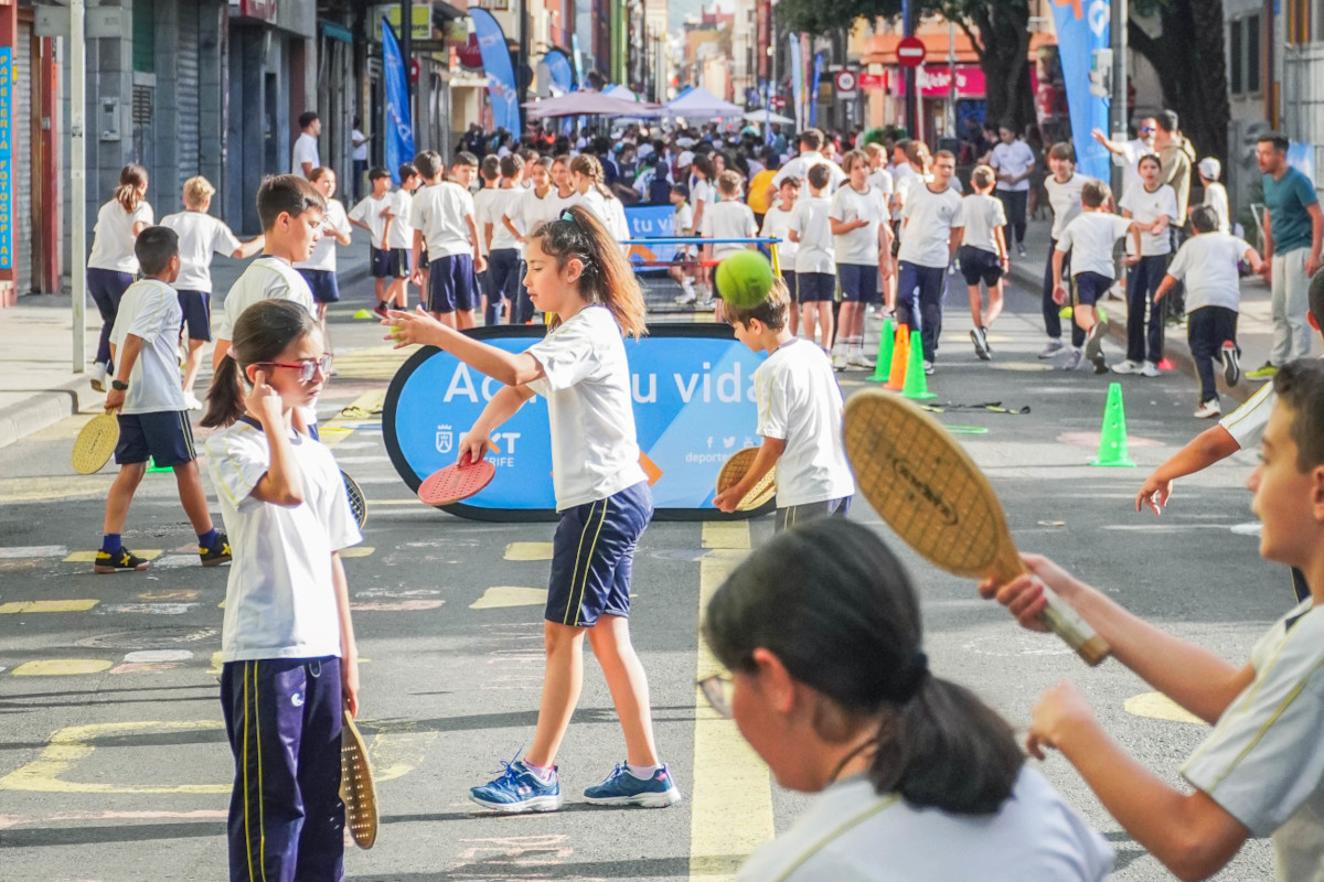
[[[1067,87],[1071,112],[1071,140],[1075,141],[1076,168],[1082,175],[1106,181],[1111,173],[1108,149],[1090,136],[1091,130],[1108,131],[1108,100],[1090,94],[1090,61],[1096,49],[1107,49],[1111,38],[1108,0],[1054,3],[1058,28],[1058,58]]]

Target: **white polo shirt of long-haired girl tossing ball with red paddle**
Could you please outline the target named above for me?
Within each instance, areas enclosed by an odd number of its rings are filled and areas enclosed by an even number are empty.
[[[528,387],[547,399],[556,510],[585,505],[642,480],[630,366],[606,307],[584,307],[527,349],[544,377]]]

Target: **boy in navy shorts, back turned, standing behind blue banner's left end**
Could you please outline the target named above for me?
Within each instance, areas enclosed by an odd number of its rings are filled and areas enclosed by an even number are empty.
[[[428,247],[426,309],[437,321],[453,328],[473,328],[478,308],[475,272],[487,268],[483,259],[474,198],[467,180],[471,167],[455,167],[455,176],[465,184],[438,180],[441,165],[432,151],[414,157],[414,165],[426,184],[414,193],[409,220],[414,227],[414,266],[424,245]],[[414,284],[422,284],[422,271],[414,270]]]

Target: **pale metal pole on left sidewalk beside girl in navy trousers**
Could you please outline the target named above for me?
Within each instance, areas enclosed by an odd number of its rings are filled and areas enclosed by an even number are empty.
[[[69,0],[69,251],[73,283],[73,324],[75,374],[87,370],[85,328],[87,320],[87,70],[83,46],[83,0]]]

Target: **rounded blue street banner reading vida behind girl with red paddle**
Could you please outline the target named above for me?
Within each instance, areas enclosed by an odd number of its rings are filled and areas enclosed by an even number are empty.
[[[475,328],[474,337],[523,352],[544,333],[536,325]],[[712,508],[718,471],[755,434],[753,373],[763,361],[716,324],[654,325],[626,340],[641,463],[659,520],[743,518]],[[396,472],[417,491],[428,475],[455,461],[459,438],[502,387],[436,348],[416,352],[396,373],[383,409],[383,436]],[[534,521],[555,517],[547,402],[528,401],[496,432],[500,454],[489,459],[496,477],[465,502],[446,506],[463,517]]]

